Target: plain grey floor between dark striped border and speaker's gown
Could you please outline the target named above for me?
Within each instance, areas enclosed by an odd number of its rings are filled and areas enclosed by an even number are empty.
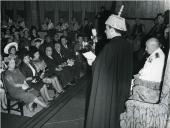
[[[85,89],[74,96],[42,128],[83,128],[85,114]]]

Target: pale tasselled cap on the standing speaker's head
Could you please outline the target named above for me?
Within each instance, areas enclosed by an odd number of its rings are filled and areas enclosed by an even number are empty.
[[[105,24],[110,25],[111,27],[121,30],[121,31],[127,31],[125,19],[120,17],[121,12],[123,11],[123,8],[124,8],[124,6],[121,7],[118,15],[112,14],[111,16],[109,16],[109,18],[106,20]]]

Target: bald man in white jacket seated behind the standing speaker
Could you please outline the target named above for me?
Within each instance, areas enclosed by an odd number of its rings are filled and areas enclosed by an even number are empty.
[[[134,76],[134,86],[130,99],[157,103],[165,55],[156,38],[151,38],[146,42],[146,51],[150,56],[147,58],[144,67]]]

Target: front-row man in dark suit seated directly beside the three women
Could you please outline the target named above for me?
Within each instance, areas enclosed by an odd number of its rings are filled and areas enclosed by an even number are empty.
[[[61,65],[59,65],[58,61],[52,56],[53,49],[51,46],[47,46],[45,49],[44,61],[47,64],[49,72],[52,75],[59,76],[62,85],[65,86],[69,82],[72,81],[72,74],[68,70],[64,70]]]

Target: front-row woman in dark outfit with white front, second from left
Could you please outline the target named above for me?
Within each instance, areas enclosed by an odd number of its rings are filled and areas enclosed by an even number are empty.
[[[47,86],[41,81],[35,66],[30,61],[28,52],[22,56],[22,63],[20,65],[21,73],[26,77],[26,82],[37,91],[40,91],[45,101],[51,101],[52,98],[49,96]]]

